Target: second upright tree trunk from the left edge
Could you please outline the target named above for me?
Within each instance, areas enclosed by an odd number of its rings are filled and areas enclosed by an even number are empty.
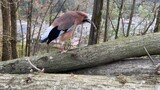
[[[10,1],[10,17],[11,17],[11,49],[12,49],[12,58],[15,59],[17,55],[17,16],[16,16],[16,1]]]

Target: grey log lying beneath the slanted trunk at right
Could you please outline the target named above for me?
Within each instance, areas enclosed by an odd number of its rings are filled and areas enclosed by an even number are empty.
[[[156,67],[160,63],[159,57],[152,56],[154,63],[148,57],[127,58],[122,61],[112,62],[106,65],[100,65],[91,68],[74,70],[68,73],[83,74],[83,75],[157,75],[159,69]]]

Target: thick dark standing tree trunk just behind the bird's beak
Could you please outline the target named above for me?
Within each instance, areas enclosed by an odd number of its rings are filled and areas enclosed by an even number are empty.
[[[89,45],[97,44],[99,42],[102,7],[103,7],[103,0],[94,0],[92,21],[95,23],[97,29],[95,29],[93,25],[91,25],[89,42],[88,42]]]

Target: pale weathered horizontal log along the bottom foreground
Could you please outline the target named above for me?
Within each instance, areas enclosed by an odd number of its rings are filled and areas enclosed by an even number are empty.
[[[1,90],[159,90],[159,76],[0,74]]]

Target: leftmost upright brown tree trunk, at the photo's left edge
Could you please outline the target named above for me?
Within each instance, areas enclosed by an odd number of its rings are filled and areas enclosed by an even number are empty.
[[[2,61],[9,60],[11,58],[10,48],[10,21],[9,21],[9,4],[8,0],[2,0],[2,19],[3,19],[3,46],[2,46]]]

